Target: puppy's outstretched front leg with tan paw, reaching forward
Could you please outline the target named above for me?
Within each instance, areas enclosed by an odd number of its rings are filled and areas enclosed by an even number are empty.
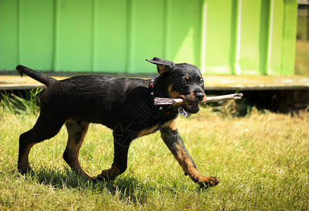
[[[189,175],[189,177],[201,187],[215,186],[219,183],[219,179],[217,179],[217,177],[204,177],[200,172],[198,172],[196,165],[187,152],[184,142],[182,141],[177,129],[163,127],[160,129],[160,132],[164,143],[168,146],[176,160],[179,162],[179,165],[184,170],[184,174]]]

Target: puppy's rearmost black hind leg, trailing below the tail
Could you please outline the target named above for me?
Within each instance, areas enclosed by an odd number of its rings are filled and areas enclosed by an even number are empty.
[[[41,110],[37,122],[29,131],[20,135],[18,151],[18,172],[25,174],[32,169],[29,165],[29,153],[35,143],[51,139],[60,131],[65,120],[52,112],[44,113]]]

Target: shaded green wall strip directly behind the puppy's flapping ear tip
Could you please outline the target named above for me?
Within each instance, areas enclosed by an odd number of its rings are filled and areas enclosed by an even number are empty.
[[[130,4],[128,72],[153,72],[145,58],[163,56],[164,1],[131,0]]]

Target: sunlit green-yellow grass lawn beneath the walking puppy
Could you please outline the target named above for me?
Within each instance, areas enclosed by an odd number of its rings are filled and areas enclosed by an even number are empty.
[[[132,143],[128,169],[115,181],[92,184],[62,159],[63,128],[32,148],[35,173],[21,176],[18,136],[36,118],[1,104],[0,210],[309,210],[308,112],[222,117],[204,108],[180,117],[179,133],[198,169],[220,177],[209,189],[184,176],[158,133]],[[91,125],[80,151],[87,172],[110,167],[112,143],[109,129]]]

